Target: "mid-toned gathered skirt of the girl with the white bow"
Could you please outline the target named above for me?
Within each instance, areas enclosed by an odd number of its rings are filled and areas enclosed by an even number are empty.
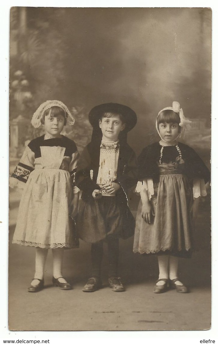
[[[193,248],[192,202],[192,190],[184,175],[160,175],[151,198],[155,213],[151,224],[142,218],[142,201],[139,202],[133,252],[190,257]]]

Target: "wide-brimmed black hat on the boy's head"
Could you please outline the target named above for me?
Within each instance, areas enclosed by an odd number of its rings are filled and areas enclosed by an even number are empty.
[[[126,127],[124,129],[126,132],[134,128],[137,123],[136,113],[130,107],[117,103],[107,103],[97,105],[89,112],[89,122],[93,128],[99,128],[98,120],[105,112],[112,112],[113,114],[122,115],[126,122]]]

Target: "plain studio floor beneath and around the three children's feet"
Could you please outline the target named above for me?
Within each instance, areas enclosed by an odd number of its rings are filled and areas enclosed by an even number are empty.
[[[73,289],[52,286],[52,254],[48,253],[45,288],[27,292],[34,275],[35,250],[11,244],[17,219],[19,195],[10,192],[9,228],[9,330],[206,330],[210,328],[210,205],[200,205],[195,231],[196,251],[191,259],[179,261],[179,277],[190,293],[168,290],[154,294],[158,276],[156,257],[133,254],[133,238],[120,241],[120,275],[126,292],[108,287],[107,247],[102,264],[103,288],[94,293],[81,291],[90,268],[90,246],[66,250],[64,276]]]

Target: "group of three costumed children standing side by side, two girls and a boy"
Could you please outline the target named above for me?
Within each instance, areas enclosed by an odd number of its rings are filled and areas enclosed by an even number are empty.
[[[104,242],[109,286],[124,291],[118,272],[119,238],[129,238],[135,228],[133,251],[158,256],[160,274],[154,292],[166,291],[168,283],[187,292],[178,280],[178,257],[192,254],[193,218],[199,196],[206,194],[209,171],[192,148],[178,142],[188,125],[179,104],[159,112],[156,129],[161,140],[143,149],[138,163],[127,144],[127,133],[137,122],[129,107],[108,103],[90,111],[92,138],[79,160],[76,144],[61,135],[66,121],[73,124],[74,119],[63,103],[43,103],[32,124],[42,123],[45,135],[29,143],[12,175],[26,183],[13,243],[36,247],[35,275],[28,291],[43,289],[48,248],[53,252],[54,285],[71,288],[62,276],[63,249],[78,247],[78,238],[91,244],[91,273],[83,291],[102,286]],[[135,226],[127,191],[137,181],[141,201]],[[73,219],[79,190],[76,235]]]

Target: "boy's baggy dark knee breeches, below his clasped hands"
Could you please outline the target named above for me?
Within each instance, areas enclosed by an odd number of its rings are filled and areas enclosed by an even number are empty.
[[[108,235],[127,239],[134,234],[135,220],[120,197],[102,196],[98,201],[81,200],[77,234],[87,243],[97,243]]]

